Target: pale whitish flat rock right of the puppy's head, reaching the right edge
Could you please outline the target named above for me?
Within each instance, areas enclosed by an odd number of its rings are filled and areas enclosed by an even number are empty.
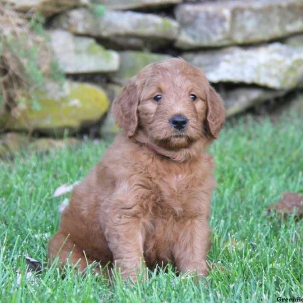
[[[215,51],[184,53],[189,63],[201,68],[209,81],[247,83],[275,89],[303,84],[303,46],[271,43]]]

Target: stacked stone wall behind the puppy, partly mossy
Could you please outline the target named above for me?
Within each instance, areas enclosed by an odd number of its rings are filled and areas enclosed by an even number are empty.
[[[205,71],[228,117],[303,84],[302,0],[6,2],[45,16],[49,47],[69,80],[43,92],[40,111],[8,114],[5,131],[60,135],[102,121],[103,135],[116,132],[105,114],[121,86],[171,56]]]

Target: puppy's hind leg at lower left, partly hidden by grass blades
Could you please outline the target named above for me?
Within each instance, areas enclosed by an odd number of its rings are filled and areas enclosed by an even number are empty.
[[[68,235],[60,232],[55,234],[48,246],[49,262],[52,264],[57,257],[59,257],[59,266],[64,266],[69,261],[71,264],[77,265],[80,272],[83,272],[88,264],[93,263],[93,260],[87,258],[84,252],[69,239]]]

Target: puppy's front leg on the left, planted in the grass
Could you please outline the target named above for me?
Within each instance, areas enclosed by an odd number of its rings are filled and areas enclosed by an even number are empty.
[[[120,217],[120,216],[118,216]],[[122,278],[137,279],[137,274],[144,274],[143,234],[140,220],[121,216],[108,228],[106,238],[112,251],[114,265],[121,272]]]

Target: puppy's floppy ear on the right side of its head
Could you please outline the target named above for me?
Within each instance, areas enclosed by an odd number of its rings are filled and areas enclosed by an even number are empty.
[[[215,91],[213,87],[210,87],[209,89],[206,103],[207,131],[210,136],[217,139],[219,136],[219,131],[221,130],[225,122],[225,109],[220,95]]]

